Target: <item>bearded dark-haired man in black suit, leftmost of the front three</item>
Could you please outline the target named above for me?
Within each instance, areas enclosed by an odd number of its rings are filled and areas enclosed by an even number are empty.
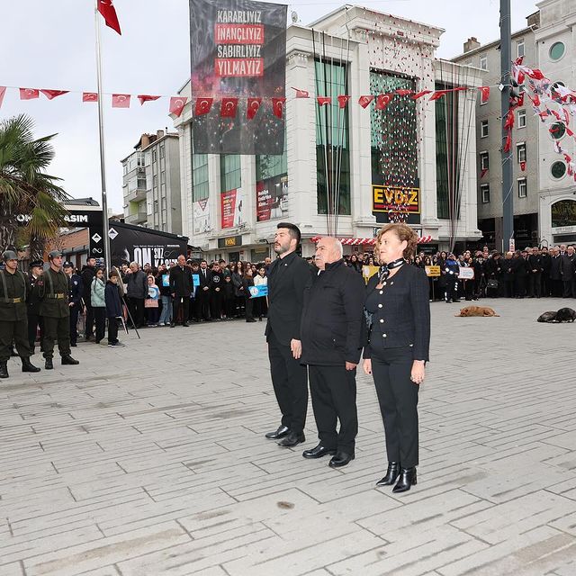
[[[279,446],[304,442],[304,423],[308,410],[306,366],[300,364],[302,342],[300,320],[304,286],[311,268],[296,254],[300,229],[289,222],[277,226],[274,250],[279,256],[268,272],[268,321],[266,341],[270,374],[282,421],[266,438],[278,439]]]

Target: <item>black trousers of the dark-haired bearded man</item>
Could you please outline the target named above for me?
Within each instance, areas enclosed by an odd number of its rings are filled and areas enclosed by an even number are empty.
[[[268,358],[276,401],[282,412],[282,425],[295,434],[302,434],[308,410],[306,366],[293,357],[289,344],[278,342],[274,332],[268,336]]]

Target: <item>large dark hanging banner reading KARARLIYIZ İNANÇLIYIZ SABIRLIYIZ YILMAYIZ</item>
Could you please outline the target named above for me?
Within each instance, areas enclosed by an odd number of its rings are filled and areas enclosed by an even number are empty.
[[[190,0],[194,153],[284,152],[284,103],[274,111],[272,98],[285,94],[286,10],[250,0]],[[262,99],[251,101],[250,114],[248,98]]]

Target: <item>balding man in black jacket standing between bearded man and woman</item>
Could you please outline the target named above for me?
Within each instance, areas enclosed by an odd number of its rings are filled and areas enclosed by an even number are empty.
[[[356,365],[362,350],[365,283],[345,265],[337,238],[320,238],[315,261],[318,273],[304,290],[301,362],[308,365],[320,444],[302,456],[333,455],[329,466],[339,468],[355,457]]]

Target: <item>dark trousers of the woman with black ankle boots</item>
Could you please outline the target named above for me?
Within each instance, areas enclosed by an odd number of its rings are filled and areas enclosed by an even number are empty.
[[[419,384],[410,380],[412,347],[374,349],[372,374],[386,435],[388,462],[419,464]]]

